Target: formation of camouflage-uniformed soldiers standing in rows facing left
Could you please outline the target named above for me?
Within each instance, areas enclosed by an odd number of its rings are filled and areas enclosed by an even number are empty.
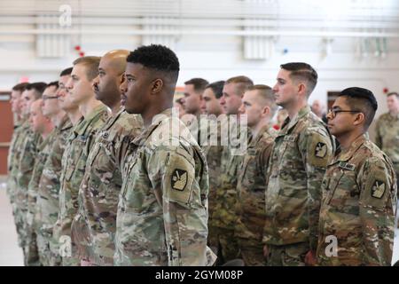
[[[371,91],[341,91],[326,127],[308,106],[316,71],[288,63],[273,88],[186,82],[179,119],[178,73],[152,44],[13,88],[8,193],[25,264],[390,264],[396,176],[367,135]]]

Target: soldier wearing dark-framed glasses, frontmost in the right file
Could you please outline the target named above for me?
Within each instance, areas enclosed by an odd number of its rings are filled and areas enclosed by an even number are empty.
[[[372,91],[348,88],[327,114],[340,142],[323,180],[320,265],[391,265],[396,177],[392,162],[366,136],[377,110]]]

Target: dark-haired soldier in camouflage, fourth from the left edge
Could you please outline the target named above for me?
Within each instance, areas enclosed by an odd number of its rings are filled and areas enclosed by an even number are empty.
[[[72,68],[63,70],[59,77],[59,88],[51,93],[43,93],[43,114],[51,119],[55,128],[54,140],[51,143],[49,154],[43,162],[43,173],[40,177],[37,193],[37,209],[35,214],[37,248],[40,263],[43,266],[59,266],[61,261],[59,250],[52,241],[52,228],[57,221],[59,212],[59,177],[61,174],[61,157],[66,147],[66,139],[72,130],[64,106],[66,93],[65,83],[70,77]],[[47,88],[49,89],[49,88]],[[46,90],[49,91],[49,90]],[[78,106],[75,105],[75,110]],[[66,109],[69,109],[66,107]],[[77,119],[82,116],[78,110]]]

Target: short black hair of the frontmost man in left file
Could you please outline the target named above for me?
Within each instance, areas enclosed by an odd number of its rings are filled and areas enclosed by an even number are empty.
[[[146,68],[167,74],[176,83],[179,75],[179,59],[174,51],[160,44],[143,45],[131,51],[126,59],[129,63],[141,64]]]

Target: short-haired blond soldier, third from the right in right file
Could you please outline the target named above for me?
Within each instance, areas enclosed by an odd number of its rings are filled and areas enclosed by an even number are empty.
[[[271,118],[277,111],[273,91],[266,85],[254,85],[244,93],[241,114],[246,114],[251,139],[244,155],[237,185],[239,217],[234,235],[246,266],[263,266],[262,231],[264,226],[264,192],[271,148],[276,130]]]

